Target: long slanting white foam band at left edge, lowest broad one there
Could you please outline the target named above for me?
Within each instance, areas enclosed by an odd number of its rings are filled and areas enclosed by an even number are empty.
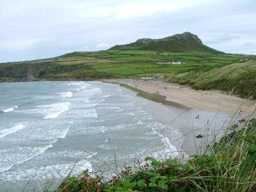
[[[56,142],[56,141],[57,140],[55,140],[54,142]],[[46,146],[43,146],[43,147],[34,147],[34,148],[31,148],[31,147],[26,147],[26,148],[17,147],[17,149],[13,149],[14,151],[20,150],[21,154],[17,155],[17,154],[14,153],[13,157],[9,157],[9,158],[6,157],[5,159],[3,159],[3,160],[6,160],[6,162],[1,162],[2,166],[0,168],[0,173],[5,172],[7,170],[10,170],[11,167],[13,167],[14,165],[24,163],[26,161],[29,161],[30,159],[33,159],[34,157],[37,157],[38,155],[41,155],[41,154],[45,153],[45,151],[47,149],[49,149],[50,147],[53,147],[53,145],[50,144],[50,145],[46,145]],[[11,150],[11,149],[9,149],[9,150]],[[28,153],[28,151],[29,151],[29,153]],[[27,154],[25,154],[25,153],[27,153]],[[10,155],[10,153],[9,153],[9,155]],[[2,156],[2,154],[1,154],[1,156]]]

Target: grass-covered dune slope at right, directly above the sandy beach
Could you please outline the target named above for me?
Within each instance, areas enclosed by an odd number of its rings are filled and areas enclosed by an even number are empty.
[[[170,74],[165,81],[189,84],[194,89],[226,90],[241,97],[251,95],[250,98],[255,99],[256,61],[233,63],[207,71]]]

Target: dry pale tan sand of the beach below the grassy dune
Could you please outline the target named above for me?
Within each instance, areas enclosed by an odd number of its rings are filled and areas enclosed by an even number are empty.
[[[162,81],[142,81],[136,79],[102,79],[102,82],[117,83],[133,91],[141,90],[149,94],[165,97],[166,101],[178,103],[191,109],[212,112],[238,113],[245,118],[254,110],[255,101],[224,94],[218,90],[194,90],[188,86]],[[131,88],[132,87],[132,88]],[[139,96],[139,95],[138,95]],[[153,100],[152,100],[153,101]],[[164,103],[163,103],[164,104]],[[164,104],[165,105],[165,104]]]

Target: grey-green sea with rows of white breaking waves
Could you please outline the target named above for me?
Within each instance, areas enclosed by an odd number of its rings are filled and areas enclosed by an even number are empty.
[[[215,117],[100,81],[0,83],[0,191],[53,190],[85,170],[107,179],[147,156],[187,158],[182,129]]]

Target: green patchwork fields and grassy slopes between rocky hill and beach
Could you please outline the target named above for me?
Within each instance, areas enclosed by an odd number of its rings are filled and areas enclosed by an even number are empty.
[[[233,91],[246,97],[256,84],[255,59],[252,55],[198,51],[74,52],[49,59],[1,63],[0,81],[141,78],[161,73],[166,82],[189,84],[194,89]],[[169,64],[172,61],[182,63]]]

